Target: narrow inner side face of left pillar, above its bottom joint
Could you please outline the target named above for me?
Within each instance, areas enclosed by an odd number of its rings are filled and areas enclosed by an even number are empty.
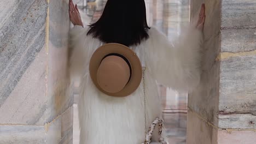
[[[49,4],[49,50],[48,50],[48,109],[44,117],[51,122],[73,105],[72,89],[69,89],[68,14],[69,0],[53,0]],[[37,123],[45,122],[40,119]]]

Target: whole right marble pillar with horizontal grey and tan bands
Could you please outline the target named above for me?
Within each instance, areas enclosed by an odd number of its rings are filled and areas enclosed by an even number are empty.
[[[191,0],[191,21],[206,4],[203,72],[188,97],[187,143],[256,140],[256,2]]]

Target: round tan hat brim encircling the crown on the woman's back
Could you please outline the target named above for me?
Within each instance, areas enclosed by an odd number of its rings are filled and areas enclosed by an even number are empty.
[[[102,59],[110,53],[118,53],[120,55],[123,55],[130,62],[132,69],[130,81],[121,91],[117,93],[106,92],[97,83],[98,67],[100,67]],[[108,43],[102,45],[101,47],[98,47],[98,49],[94,52],[94,54],[91,57],[89,71],[91,80],[92,82],[94,82],[95,86],[101,92],[113,97],[126,97],[127,95],[132,94],[136,91],[142,80],[142,65],[136,53],[132,51],[129,47],[117,43]]]

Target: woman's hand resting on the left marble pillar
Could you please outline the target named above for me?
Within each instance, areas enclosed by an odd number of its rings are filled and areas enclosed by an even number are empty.
[[[74,5],[72,0],[69,0],[69,19],[73,25],[84,27],[77,4]]]

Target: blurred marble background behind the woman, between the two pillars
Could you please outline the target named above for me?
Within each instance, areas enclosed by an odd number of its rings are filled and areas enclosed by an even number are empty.
[[[97,21],[107,0],[73,0],[85,25]],[[84,4],[83,4],[84,1]],[[189,21],[189,0],[145,0],[149,26],[155,26],[168,38],[179,33],[179,28]],[[185,144],[187,130],[187,94],[177,93],[159,85],[162,96],[163,115],[169,144]],[[77,95],[74,98],[73,144],[79,143]]]

